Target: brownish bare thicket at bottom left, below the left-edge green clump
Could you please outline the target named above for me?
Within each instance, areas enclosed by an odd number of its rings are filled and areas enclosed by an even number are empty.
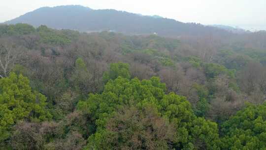
[[[12,150],[82,150],[86,123],[80,112],[71,112],[58,122],[20,121],[13,127],[8,144]]]

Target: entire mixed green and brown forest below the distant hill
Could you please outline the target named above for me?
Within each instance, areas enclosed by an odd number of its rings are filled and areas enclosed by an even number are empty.
[[[0,150],[266,150],[266,32],[0,25]]]

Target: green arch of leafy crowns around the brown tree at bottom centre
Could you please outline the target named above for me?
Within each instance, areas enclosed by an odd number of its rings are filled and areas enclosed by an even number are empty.
[[[158,77],[140,81],[137,78],[129,80],[119,76],[115,80],[109,80],[102,94],[90,94],[88,100],[80,101],[78,109],[91,116],[97,127],[96,133],[88,139],[87,149],[113,149],[108,142],[112,133],[106,126],[108,120],[123,106],[135,106],[139,110],[151,107],[161,117],[169,119],[178,135],[177,141],[174,142],[176,148],[202,147],[198,145],[199,142],[207,150],[216,148],[214,142],[209,141],[218,140],[217,124],[210,121],[199,123],[204,119],[194,122],[197,117],[186,98],[174,93],[166,95],[165,91],[166,85],[161,83]],[[203,131],[198,132],[196,128],[202,128]]]

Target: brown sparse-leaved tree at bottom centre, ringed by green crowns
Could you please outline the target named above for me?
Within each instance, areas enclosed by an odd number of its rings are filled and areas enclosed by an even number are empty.
[[[177,140],[173,124],[152,108],[122,108],[108,119],[106,133],[98,149],[170,150]]]

